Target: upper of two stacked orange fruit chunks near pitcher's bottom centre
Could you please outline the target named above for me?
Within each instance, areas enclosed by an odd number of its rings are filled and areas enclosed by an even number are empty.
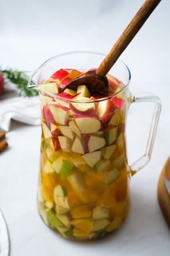
[[[77,208],[71,209],[71,216],[73,218],[90,218],[91,210],[88,205],[81,205]]]

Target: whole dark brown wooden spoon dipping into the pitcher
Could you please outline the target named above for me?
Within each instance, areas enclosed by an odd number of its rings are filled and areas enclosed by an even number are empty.
[[[133,20],[131,20],[128,27],[126,27],[122,35],[120,35],[120,38],[118,38],[111,51],[109,51],[109,54],[107,54],[99,65],[98,69],[90,70],[80,77],[76,77],[76,79],[68,83],[65,88],[62,88],[61,92],[66,88],[76,90],[78,85],[86,85],[91,93],[107,95],[109,89],[106,77],[107,73],[125,48],[129,45],[131,40],[133,40],[140,30],[140,27],[143,26],[160,1],[161,0],[146,0],[143,6],[140,7],[138,12],[135,14],[135,17],[133,17]]]

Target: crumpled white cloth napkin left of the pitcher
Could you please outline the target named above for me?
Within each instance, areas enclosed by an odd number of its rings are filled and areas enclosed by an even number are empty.
[[[11,120],[24,124],[40,124],[39,97],[19,96],[17,90],[6,87],[5,93],[0,98],[0,130],[8,132]]]

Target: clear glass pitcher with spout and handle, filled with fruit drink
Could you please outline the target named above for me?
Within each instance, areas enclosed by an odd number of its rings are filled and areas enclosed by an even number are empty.
[[[102,59],[104,54],[85,51],[54,56],[35,70],[28,84],[40,93],[38,212],[48,227],[67,239],[95,239],[120,228],[130,209],[130,178],[150,161],[161,112],[156,95],[130,93],[130,70],[120,60],[108,75],[110,81],[121,83],[120,90],[105,98],[60,98],[40,86],[58,69],[86,71],[98,67]],[[154,103],[155,111],[146,153],[129,166],[126,119],[130,104],[140,102]],[[78,115],[71,108],[75,103],[86,104],[88,110],[91,104],[100,106],[102,114]]]

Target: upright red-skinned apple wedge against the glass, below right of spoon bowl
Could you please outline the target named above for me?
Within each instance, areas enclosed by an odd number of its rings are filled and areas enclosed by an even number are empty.
[[[107,123],[115,111],[115,106],[111,100],[99,101],[97,104],[97,116],[99,120]]]

